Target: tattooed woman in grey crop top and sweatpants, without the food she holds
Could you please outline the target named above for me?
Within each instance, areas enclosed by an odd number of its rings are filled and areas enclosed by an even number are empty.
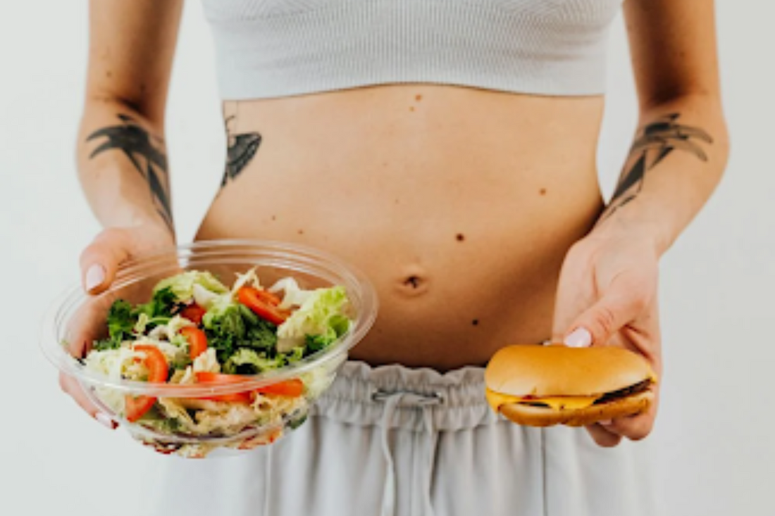
[[[162,135],[181,7],[91,5],[78,156],[105,226],[81,257],[91,293],[174,243]],[[625,346],[661,371],[658,260],[727,156],[713,2],[625,2],[640,125],[605,207],[595,150],[618,9],[205,0],[229,160],[197,238],[336,253],[381,311],[294,435],[168,482],[186,496],[201,482],[224,514],[646,511],[642,465],[604,448],[646,437],[656,406],[588,435],[520,428],[488,411],[481,379],[501,346],[546,339]]]

